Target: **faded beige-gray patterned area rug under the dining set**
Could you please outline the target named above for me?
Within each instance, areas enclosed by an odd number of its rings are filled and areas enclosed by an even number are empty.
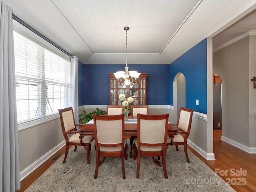
[[[127,144],[129,142],[127,141]],[[94,143],[93,145],[94,146]],[[128,144],[128,152],[130,152]],[[188,150],[190,163],[186,162],[183,146],[167,150],[168,179],[162,167],[154,164],[151,157],[142,157],[140,178],[136,178],[137,159],[125,160],[126,179],[122,178],[120,157],[106,158],[94,179],[96,152],[92,148],[90,164],[86,161],[84,147],[70,148],[66,163],[62,155],[26,192],[233,192],[224,180],[208,168]]]

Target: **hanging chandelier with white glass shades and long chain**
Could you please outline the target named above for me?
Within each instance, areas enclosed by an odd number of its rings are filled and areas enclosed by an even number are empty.
[[[120,84],[121,86],[124,85],[136,85],[137,84],[137,80],[140,76],[140,73],[138,73],[137,71],[128,71],[128,66],[127,66],[127,31],[129,30],[129,27],[124,27],[124,30],[126,30],[126,67],[125,67],[125,71],[118,71],[115,72],[114,75],[117,79],[118,84]]]

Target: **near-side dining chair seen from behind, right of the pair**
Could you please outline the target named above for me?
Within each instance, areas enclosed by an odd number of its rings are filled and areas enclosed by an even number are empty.
[[[164,177],[168,178],[166,170],[166,150],[168,136],[169,114],[142,115],[138,114],[137,138],[134,139],[134,159],[138,156],[137,174],[140,175],[140,156],[149,156],[153,160],[156,156],[162,156]]]

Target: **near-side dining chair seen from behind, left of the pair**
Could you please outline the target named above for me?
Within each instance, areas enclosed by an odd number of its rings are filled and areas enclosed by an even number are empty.
[[[104,116],[93,114],[93,120],[96,148],[94,179],[97,178],[99,166],[104,162],[105,157],[117,156],[121,156],[122,173],[125,179],[124,159],[127,160],[127,144],[124,138],[124,114]]]

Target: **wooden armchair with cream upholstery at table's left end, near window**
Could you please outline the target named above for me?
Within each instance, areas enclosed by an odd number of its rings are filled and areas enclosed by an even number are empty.
[[[63,163],[66,162],[69,146],[74,145],[74,151],[76,151],[77,146],[84,146],[87,152],[87,164],[90,164],[90,151],[92,147],[91,142],[93,141],[94,136],[84,136],[84,138],[82,139],[79,138],[80,134],[76,126],[83,126],[84,124],[75,123],[74,112],[72,107],[59,109],[59,113],[62,132],[66,140],[66,150]]]

